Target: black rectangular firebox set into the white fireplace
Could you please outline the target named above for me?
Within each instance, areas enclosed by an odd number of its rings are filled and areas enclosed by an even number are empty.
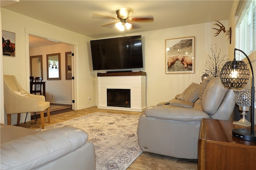
[[[130,89],[107,89],[107,106],[131,107]]]

